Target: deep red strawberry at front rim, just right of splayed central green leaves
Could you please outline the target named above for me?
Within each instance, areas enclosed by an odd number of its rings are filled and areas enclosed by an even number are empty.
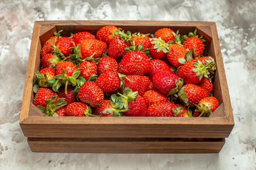
[[[147,113],[147,105],[143,97],[137,95],[137,98],[128,102],[128,111],[124,112],[125,116],[144,117]]]

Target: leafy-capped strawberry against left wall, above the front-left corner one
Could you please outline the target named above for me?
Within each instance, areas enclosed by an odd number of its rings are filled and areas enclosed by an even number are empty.
[[[36,92],[39,87],[51,87],[55,81],[55,70],[54,68],[43,68],[40,71],[37,71],[34,78],[33,91]]]

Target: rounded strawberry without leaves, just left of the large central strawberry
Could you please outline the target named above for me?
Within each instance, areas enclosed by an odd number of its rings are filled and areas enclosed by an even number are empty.
[[[97,64],[97,73],[101,75],[104,71],[117,71],[117,60],[112,57],[101,57]]]

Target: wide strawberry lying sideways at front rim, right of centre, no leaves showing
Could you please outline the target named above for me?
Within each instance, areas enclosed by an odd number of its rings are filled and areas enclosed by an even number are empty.
[[[151,104],[147,109],[147,116],[173,117],[175,105],[171,102],[159,102]]]

